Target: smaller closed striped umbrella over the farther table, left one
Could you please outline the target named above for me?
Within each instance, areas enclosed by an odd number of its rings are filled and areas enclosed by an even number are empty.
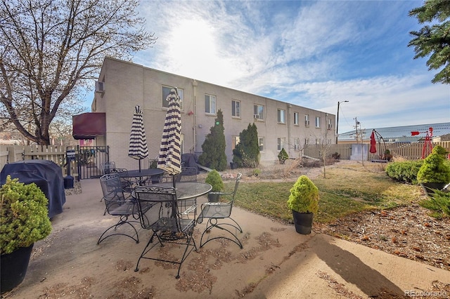
[[[148,157],[146,130],[143,127],[141,107],[134,107],[133,124],[129,135],[128,157],[139,160],[139,171],[141,171],[141,159]]]

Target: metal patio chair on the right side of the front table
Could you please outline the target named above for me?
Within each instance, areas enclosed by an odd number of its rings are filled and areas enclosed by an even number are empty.
[[[233,233],[231,230],[238,230],[240,233],[242,233],[242,228],[234,220],[231,218],[231,209],[233,208],[233,201],[236,196],[236,192],[238,191],[238,186],[240,182],[240,178],[242,178],[242,173],[238,173],[236,176],[236,183],[234,185],[233,192],[224,193],[224,192],[210,192],[220,194],[221,196],[229,196],[231,197],[230,201],[227,202],[206,202],[205,204],[202,204],[201,208],[202,211],[198,215],[197,222],[201,223],[203,222],[203,219],[207,219],[206,228],[203,231],[202,237],[200,238],[200,248],[202,248],[207,242],[214,240],[214,239],[228,239],[234,243],[236,243],[240,248],[243,248],[242,243],[240,243],[238,237],[236,236],[236,233]],[[231,220],[226,221],[226,220]],[[217,228],[219,230],[223,230],[225,232],[228,232],[231,234],[232,237],[211,237],[211,230]],[[203,238],[206,237],[207,239],[203,241]]]

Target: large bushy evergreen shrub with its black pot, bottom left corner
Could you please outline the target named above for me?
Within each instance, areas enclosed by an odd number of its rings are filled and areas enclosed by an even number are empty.
[[[1,293],[23,281],[34,242],[50,234],[48,202],[36,184],[25,185],[11,175],[0,188]]]

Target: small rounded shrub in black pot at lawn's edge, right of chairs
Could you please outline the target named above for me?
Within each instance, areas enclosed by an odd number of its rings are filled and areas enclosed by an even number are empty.
[[[312,220],[319,209],[319,189],[306,175],[290,188],[288,207],[293,211],[295,231],[311,234]]]

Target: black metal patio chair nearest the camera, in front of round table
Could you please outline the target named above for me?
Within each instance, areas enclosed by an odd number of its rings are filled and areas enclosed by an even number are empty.
[[[166,263],[178,264],[176,278],[180,277],[181,265],[188,255],[195,249],[193,230],[195,219],[184,218],[179,212],[176,192],[173,187],[146,186],[136,188],[136,197],[139,208],[139,216],[143,229],[153,231],[146,247],[143,249],[135,272],[139,271],[141,259],[158,260]],[[145,211],[145,209],[147,209]],[[183,251],[180,258],[162,257],[157,250],[152,251],[155,246],[161,247],[165,244],[179,244]],[[178,247],[171,248],[179,250]],[[172,254],[170,255],[172,256]]]

